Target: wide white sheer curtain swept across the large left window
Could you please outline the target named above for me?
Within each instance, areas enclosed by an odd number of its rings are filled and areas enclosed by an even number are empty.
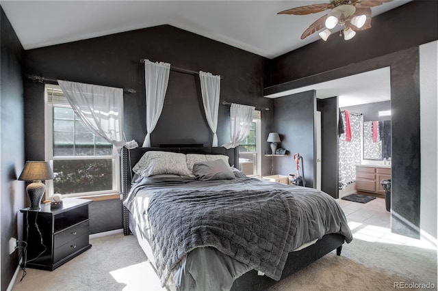
[[[73,111],[103,139],[116,148],[138,148],[123,133],[123,89],[58,80]]]

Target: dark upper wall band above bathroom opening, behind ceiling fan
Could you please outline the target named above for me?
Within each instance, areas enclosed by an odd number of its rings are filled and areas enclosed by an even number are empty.
[[[372,28],[358,31],[351,40],[345,41],[333,33],[326,42],[318,40],[285,53],[272,61],[270,85],[302,79],[437,40],[437,11],[438,1],[411,1],[373,16]]]

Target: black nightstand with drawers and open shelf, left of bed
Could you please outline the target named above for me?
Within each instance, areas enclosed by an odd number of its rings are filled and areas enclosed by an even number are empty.
[[[51,209],[50,204],[45,204],[40,210],[20,210],[23,240],[27,242],[27,267],[53,271],[90,249],[88,204],[92,200],[62,201],[61,208]]]

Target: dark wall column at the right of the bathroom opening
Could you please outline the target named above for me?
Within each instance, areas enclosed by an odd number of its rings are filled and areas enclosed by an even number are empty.
[[[391,230],[420,238],[420,56],[394,54],[391,64]]]

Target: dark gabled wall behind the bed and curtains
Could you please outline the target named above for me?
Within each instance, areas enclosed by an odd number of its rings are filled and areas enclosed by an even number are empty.
[[[96,85],[136,89],[125,94],[125,134],[141,145],[146,135],[144,64],[140,59],[165,61],[173,67],[222,76],[220,100],[255,107],[271,107],[262,97],[268,59],[222,44],[170,25],[117,33],[25,53],[25,73],[50,79],[65,79]],[[199,77],[170,72],[162,115],[151,134],[151,145],[159,143],[203,143],[213,135],[205,120]],[[44,159],[44,85],[26,81],[26,158]],[[268,136],[272,111],[263,111],[262,137]],[[36,113],[40,117],[36,117]],[[229,141],[229,107],[219,107],[218,144]],[[262,152],[268,150],[263,143]],[[264,158],[264,157],[263,157]],[[262,171],[269,171],[262,169]],[[90,205],[91,232],[120,228],[122,204],[94,202]],[[111,212],[112,218],[107,219]]]

